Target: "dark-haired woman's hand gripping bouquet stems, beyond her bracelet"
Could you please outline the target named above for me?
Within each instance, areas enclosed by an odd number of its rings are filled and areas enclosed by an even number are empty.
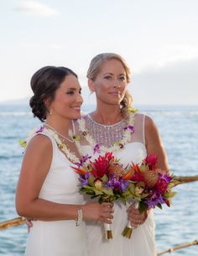
[[[113,203],[103,202],[102,204],[92,201],[81,206],[83,218],[85,220],[92,220],[97,222],[105,222],[111,224],[113,218]]]

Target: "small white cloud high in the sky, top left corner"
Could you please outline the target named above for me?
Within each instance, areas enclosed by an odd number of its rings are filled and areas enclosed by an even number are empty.
[[[24,1],[14,9],[18,12],[35,14],[44,17],[55,16],[59,13],[58,10],[56,10],[55,8],[50,8],[43,3],[38,3],[34,1]]]

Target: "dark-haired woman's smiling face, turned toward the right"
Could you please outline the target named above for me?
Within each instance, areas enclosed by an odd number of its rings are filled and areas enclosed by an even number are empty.
[[[50,103],[50,112],[53,116],[66,119],[81,117],[81,86],[76,76],[65,76],[60,88],[55,91],[55,99]]]

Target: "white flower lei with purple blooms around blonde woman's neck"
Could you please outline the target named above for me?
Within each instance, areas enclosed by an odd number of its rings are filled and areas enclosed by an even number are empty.
[[[128,107],[128,113],[129,113],[129,115],[128,115],[128,126],[124,128],[123,138],[119,141],[114,142],[114,144],[110,148],[102,146],[101,144],[97,144],[95,139],[91,137],[91,134],[86,129],[86,117],[85,116],[83,116],[81,119],[78,119],[77,123],[79,125],[81,135],[84,138],[86,138],[86,141],[91,145],[91,147],[93,148],[94,154],[96,154],[96,152],[100,153],[100,151],[116,152],[119,149],[123,149],[124,145],[129,143],[129,141],[131,139],[131,134],[134,133],[134,127],[133,127],[134,114],[137,111],[138,110],[134,107]],[[81,144],[80,144],[81,136],[74,135],[73,138],[76,141],[76,146],[77,146],[79,152],[82,154]]]

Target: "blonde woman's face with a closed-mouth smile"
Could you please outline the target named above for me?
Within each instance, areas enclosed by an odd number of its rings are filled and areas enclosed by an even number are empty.
[[[126,71],[122,62],[116,59],[107,60],[94,80],[89,80],[91,91],[96,92],[98,102],[117,105],[127,90]]]

